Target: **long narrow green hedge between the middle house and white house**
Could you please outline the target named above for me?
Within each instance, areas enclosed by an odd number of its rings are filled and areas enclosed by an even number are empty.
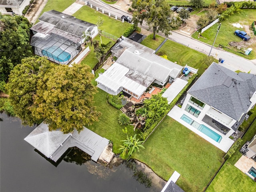
[[[180,91],[180,93],[174,98],[174,100],[172,100],[172,102],[169,104],[166,112],[164,113],[164,115],[159,118],[154,124],[152,124],[152,126],[150,126],[147,130],[145,130],[144,132],[140,133],[140,137],[146,141],[146,139],[148,138],[148,136],[151,134],[151,132],[154,130],[154,128],[156,128],[156,126],[161,122],[161,120],[168,114],[168,112],[174,107],[174,105],[176,104],[176,102],[180,99],[180,97],[182,96],[182,94],[184,94],[184,92],[186,92],[186,90],[188,89],[188,87],[190,86],[190,84],[194,81],[194,79],[196,78],[197,74],[193,74],[189,79],[188,79],[188,84],[186,84],[186,86]]]

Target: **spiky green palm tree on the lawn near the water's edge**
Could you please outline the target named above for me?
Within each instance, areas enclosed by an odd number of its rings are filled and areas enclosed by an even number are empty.
[[[130,158],[130,156],[132,155],[133,152],[140,152],[140,148],[144,148],[144,146],[142,145],[142,143],[144,141],[140,141],[140,139],[136,139],[137,134],[135,134],[133,137],[127,136],[127,140],[122,140],[122,142],[124,142],[123,145],[120,145],[119,150],[122,150],[122,156],[125,157],[127,156],[126,160],[128,160]]]

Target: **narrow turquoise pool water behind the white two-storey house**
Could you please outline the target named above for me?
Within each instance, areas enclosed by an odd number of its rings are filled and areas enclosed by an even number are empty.
[[[197,122],[195,122],[194,120],[192,120],[191,118],[189,118],[188,116],[186,116],[184,114],[182,115],[181,119],[190,125],[198,124]],[[220,143],[220,141],[222,140],[222,136],[220,136],[219,134],[217,134],[216,132],[214,132],[213,130],[211,130],[210,128],[206,127],[203,124],[199,124],[197,129],[218,143]]]

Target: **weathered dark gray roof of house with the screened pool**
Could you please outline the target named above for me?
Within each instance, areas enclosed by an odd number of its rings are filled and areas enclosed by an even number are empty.
[[[56,10],[44,12],[39,20],[54,24],[55,28],[75,34],[77,36],[82,36],[83,32],[86,31],[87,28],[88,32],[90,32],[94,27],[96,27],[95,24],[82,21],[71,15],[64,14]]]

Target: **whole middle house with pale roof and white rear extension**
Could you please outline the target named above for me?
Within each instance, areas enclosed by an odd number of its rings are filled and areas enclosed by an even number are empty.
[[[183,68],[125,37],[111,52],[118,59],[96,82],[99,88],[113,95],[124,91],[138,99],[153,82],[164,85],[170,79],[176,80]]]

